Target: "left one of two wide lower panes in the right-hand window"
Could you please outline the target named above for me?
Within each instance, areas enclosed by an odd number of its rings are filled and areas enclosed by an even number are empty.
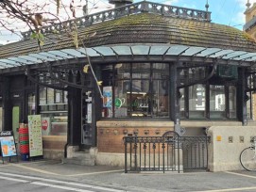
[[[189,118],[205,118],[205,86],[189,87]]]

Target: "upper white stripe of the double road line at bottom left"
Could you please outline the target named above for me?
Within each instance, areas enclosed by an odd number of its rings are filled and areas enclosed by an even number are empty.
[[[74,183],[74,182],[44,179],[44,178],[40,178],[40,177],[18,175],[18,174],[5,173],[5,172],[0,172],[0,174],[1,175],[6,175],[6,176],[11,176],[11,177],[20,177],[20,178],[29,179],[29,180],[40,180],[41,182],[43,181],[43,182],[49,182],[49,183],[55,183],[55,184],[67,184],[67,185],[81,186],[81,187],[87,187],[87,188],[92,188],[92,189],[100,189],[100,190],[105,190],[105,191],[113,191],[113,192],[124,192],[124,190],[108,188],[108,187],[103,187],[103,186],[94,186],[92,184],[78,184],[78,183]]]

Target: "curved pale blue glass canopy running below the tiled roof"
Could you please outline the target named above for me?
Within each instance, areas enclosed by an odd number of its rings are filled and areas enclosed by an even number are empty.
[[[44,62],[61,61],[79,57],[107,57],[107,56],[179,56],[183,58],[202,58],[220,59],[229,61],[230,65],[254,66],[256,61],[256,53],[248,53],[244,51],[233,51],[219,48],[205,48],[186,45],[113,45],[98,46],[92,48],[79,49],[62,49],[48,52],[40,52],[37,54],[29,54],[27,56],[17,56],[0,59],[0,69],[8,69],[31,64],[41,64]],[[227,64],[227,62],[226,62]]]

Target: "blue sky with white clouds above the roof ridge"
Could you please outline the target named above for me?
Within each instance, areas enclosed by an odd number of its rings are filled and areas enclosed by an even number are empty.
[[[41,0],[38,0],[41,1]],[[43,0],[42,0],[43,1]],[[50,0],[49,0],[50,1]],[[71,0],[66,1],[68,4]],[[86,0],[75,0],[77,5],[82,5],[83,1]],[[134,3],[140,2],[141,0],[133,0]],[[161,3],[165,5],[172,5],[184,8],[195,8],[205,10],[205,5],[207,0],[148,0],[155,3]],[[256,3],[256,0],[249,0],[251,4]],[[45,2],[45,0],[43,1]],[[108,0],[89,0],[89,13],[94,13],[97,11],[102,11],[104,9],[112,8],[108,4]],[[247,0],[208,0],[209,11],[212,12],[212,22],[216,24],[226,24],[243,30],[243,25],[245,24],[245,15]],[[78,12],[78,11],[77,11]],[[66,14],[65,14],[66,15]],[[79,15],[79,14],[77,14]],[[82,16],[82,10],[80,8],[80,15]],[[0,11],[1,17],[1,11]],[[15,24],[14,24],[15,25]],[[19,31],[24,26],[16,23],[15,31]],[[21,40],[20,36],[11,34],[5,28],[0,27],[0,44],[7,44]]]

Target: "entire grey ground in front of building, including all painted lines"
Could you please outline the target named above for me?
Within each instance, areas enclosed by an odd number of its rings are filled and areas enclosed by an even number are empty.
[[[256,172],[124,173],[58,161],[0,165],[0,191],[256,191]]]

